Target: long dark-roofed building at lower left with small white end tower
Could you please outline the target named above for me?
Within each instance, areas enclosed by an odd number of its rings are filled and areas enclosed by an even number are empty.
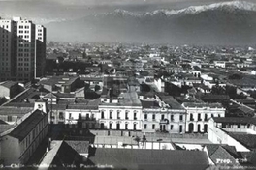
[[[34,111],[20,118],[15,128],[1,133],[1,159],[4,165],[25,164],[48,134],[46,102],[35,102]]]

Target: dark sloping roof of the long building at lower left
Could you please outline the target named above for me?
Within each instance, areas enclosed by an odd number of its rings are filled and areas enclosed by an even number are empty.
[[[25,120],[18,124],[9,135],[19,139],[19,141],[23,140],[31,130],[45,118],[45,116],[46,113],[41,110],[35,110]]]

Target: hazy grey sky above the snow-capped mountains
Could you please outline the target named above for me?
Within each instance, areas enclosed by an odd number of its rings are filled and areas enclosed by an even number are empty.
[[[0,0],[0,16],[22,16],[45,23],[56,19],[73,19],[88,14],[123,9],[134,12],[158,9],[182,9],[230,0]],[[256,2],[256,0],[246,0]]]

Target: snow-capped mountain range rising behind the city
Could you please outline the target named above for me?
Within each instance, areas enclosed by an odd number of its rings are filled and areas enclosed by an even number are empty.
[[[255,44],[256,4],[229,1],[181,10],[115,10],[46,25],[48,40]]]

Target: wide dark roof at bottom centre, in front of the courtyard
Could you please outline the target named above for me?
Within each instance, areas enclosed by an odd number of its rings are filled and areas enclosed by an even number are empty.
[[[208,156],[203,151],[97,148],[95,156],[88,159],[97,165],[108,164],[128,170],[200,170],[208,167]]]

